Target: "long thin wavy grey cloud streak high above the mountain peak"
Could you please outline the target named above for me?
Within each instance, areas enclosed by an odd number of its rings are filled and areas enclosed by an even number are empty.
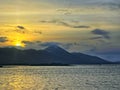
[[[70,22],[65,22],[65,21],[61,21],[61,20],[50,20],[50,21],[40,21],[41,23],[53,23],[53,24],[60,24],[66,27],[71,27],[71,28],[90,28],[90,26],[86,26],[86,25],[75,25],[75,24],[70,24]]]

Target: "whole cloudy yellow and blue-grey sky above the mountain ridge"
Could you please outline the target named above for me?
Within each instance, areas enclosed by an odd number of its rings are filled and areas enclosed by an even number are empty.
[[[58,45],[120,61],[120,0],[0,0],[0,47]]]

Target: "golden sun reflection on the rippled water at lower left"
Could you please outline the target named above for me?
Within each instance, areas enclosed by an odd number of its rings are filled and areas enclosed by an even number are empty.
[[[36,79],[34,75],[25,75],[21,73],[4,76],[1,82],[3,82],[3,84],[1,84],[0,90],[36,90],[36,88],[43,90],[45,87],[42,77]]]

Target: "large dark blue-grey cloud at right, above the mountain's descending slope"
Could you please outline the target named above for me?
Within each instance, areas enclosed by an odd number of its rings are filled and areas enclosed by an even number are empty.
[[[91,33],[93,33],[95,35],[101,35],[105,39],[110,39],[109,32],[107,32],[105,30],[95,29],[95,30],[91,31]]]

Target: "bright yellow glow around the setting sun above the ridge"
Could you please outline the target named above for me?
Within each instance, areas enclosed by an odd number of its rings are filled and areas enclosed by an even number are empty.
[[[8,41],[4,43],[4,45],[14,46],[14,47],[25,47],[26,44],[24,41],[33,42],[35,40],[35,36],[31,33],[20,33],[20,32],[8,32],[6,35]],[[4,46],[3,45],[3,46]],[[1,45],[2,46],[2,45]]]

